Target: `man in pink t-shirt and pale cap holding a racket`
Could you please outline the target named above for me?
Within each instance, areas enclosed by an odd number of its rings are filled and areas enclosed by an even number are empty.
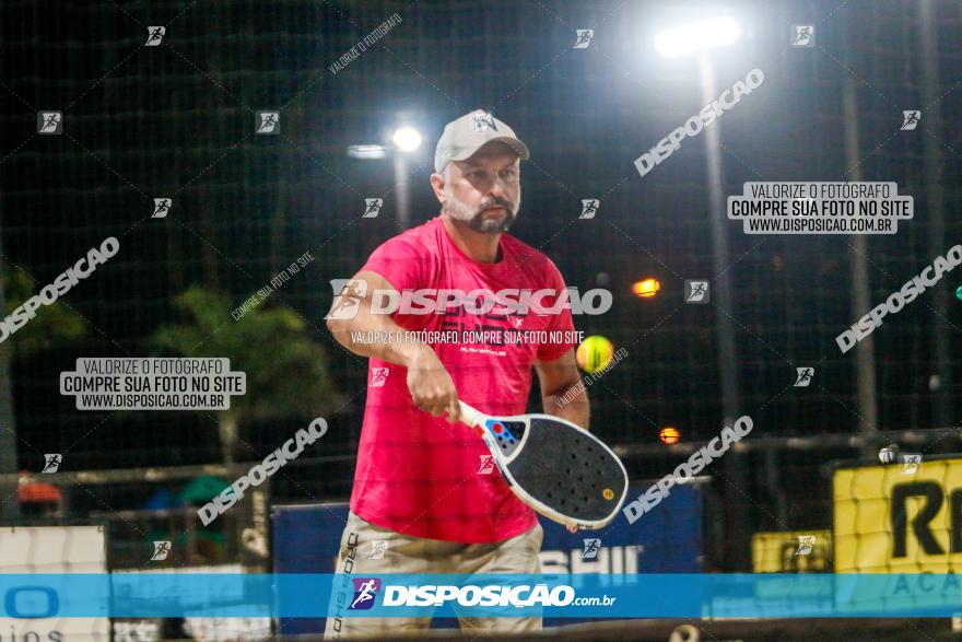
[[[584,394],[570,404],[554,402],[579,381],[573,343],[497,337],[537,337],[542,330],[563,336],[574,330],[566,308],[558,314],[536,312],[554,307],[564,293],[558,268],[505,234],[521,201],[520,160],[528,157],[528,148],[514,131],[485,112],[448,122],[431,175],[441,215],[375,249],[331,306],[327,325],[337,340],[371,358],[338,573],[351,573],[357,581],[387,572],[540,573],[542,530],[533,511],[492,469],[490,453],[477,434],[458,421],[459,398],[490,415],[524,413],[533,367],[544,411],[588,425]],[[403,307],[390,315],[372,311],[378,291],[377,300],[383,301],[384,293],[424,289],[550,289],[558,294],[544,296],[543,307],[529,311],[495,303],[482,312],[481,301],[437,301],[439,310],[431,314]],[[336,314],[345,308],[356,313]],[[430,345],[404,340],[406,330],[423,331],[421,337],[488,331],[482,336],[493,338]],[[430,618],[342,617],[354,597],[353,583],[342,577],[335,580],[327,637],[417,633],[430,626]],[[472,634],[541,629],[540,617],[459,621]]]

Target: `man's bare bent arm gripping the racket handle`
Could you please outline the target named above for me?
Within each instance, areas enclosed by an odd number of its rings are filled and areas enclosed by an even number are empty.
[[[414,405],[434,417],[447,412],[448,421],[457,421],[460,415],[458,393],[434,349],[409,339],[411,335],[406,334],[404,328],[396,324],[389,314],[377,314],[371,310],[375,291],[395,288],[387,279],[369,270],[361,270],[351,280],[365,281],[367,288],[363,295],[349,297],[349,284],[335,297],[331,312],[352,304],[355,299],[357,301],[357,313],[351,318],[331,316],[327,319],[327,327],[338,343],[354,354],[376,357],[403,365],[408,370],[408,389]]]

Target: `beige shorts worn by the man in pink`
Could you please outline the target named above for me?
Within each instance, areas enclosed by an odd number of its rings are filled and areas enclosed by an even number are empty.
[[[538,552],[544,532],[540,524],[516,537],[493,544],[458,544],[395,533],[365,522],[353,512],[341,537],[338,574],[379,573],[540,573]],[[353,583],[335,579],[325,630],[326,639],[417,635],[431,618],[339,617],[353,598]],[[530,633],[541,630],[540,617],[458,617],[461,631],[473,637]]]

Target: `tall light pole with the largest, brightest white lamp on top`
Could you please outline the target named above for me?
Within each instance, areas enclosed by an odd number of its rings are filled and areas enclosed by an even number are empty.
[[[740,30],[734,19],[715,17],[679,25],[660,32],[656,50],[665,58],[694,56],[699,66],[701,101],[709,105],[718,97],[715,68],[708,49],[735,44]],[[705,173],[707,176],[708,233],[712,240],[712,269],[715,272],[715,328],[718,341],[718,378],[722,384],[722,425],[732,425],[739,412],[738,361],[731,320],[731,282],[728,277],[728,219],[725,209],[725,173],[722,165],[720,124],[716,119],[704,128]],[[750,535],[744,502],[748,475],[744,455],[732,448],[725,459],[725,504],[728,533],[728,560],[738,569],[748,565],[747,541]]]

